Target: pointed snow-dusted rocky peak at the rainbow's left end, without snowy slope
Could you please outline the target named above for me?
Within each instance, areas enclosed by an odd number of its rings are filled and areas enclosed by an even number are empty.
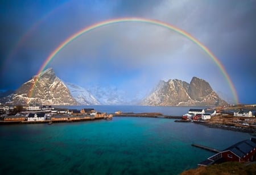
[[[68,87],[56,77],[52,68],[42,72],[38,81],[35,80],[36,77],[34,76],[20,86],[12,95],[10,101],[14,104],[78,105]]]

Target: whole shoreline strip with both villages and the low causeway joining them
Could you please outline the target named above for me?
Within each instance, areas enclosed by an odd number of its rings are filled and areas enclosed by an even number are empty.
[[[252,109],[252,110],[250,110]],[[248,106],[216,107],[208,109],[189,109],[182,116],[167,116],[161,113],[101,113],[94,109],[61,109],[52,105],[31,104],[3,105],[0,103],[0,123],[47,123],[47,122],[78,122],[93,119],[112,119],[113,116],[144,116],[155,118],[181,119],[175,122],[195,122],[199,124],[218,124],[237,128],[256,128],[254,108]],[[251,130],[253,131],[253,130]]]

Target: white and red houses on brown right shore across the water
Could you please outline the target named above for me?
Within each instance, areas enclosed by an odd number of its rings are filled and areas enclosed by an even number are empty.
[[[175,120],[175,122],[193,122],[256,135],[255,111],[248,109],[189,109],[181,120]]]

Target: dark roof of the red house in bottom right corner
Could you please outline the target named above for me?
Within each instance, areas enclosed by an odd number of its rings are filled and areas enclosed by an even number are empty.
[[[243,140],[240,141],[234,145],[232,145],[229,148],[224,149],[224,151],[232,151],[239,157],[245,156],[247,153],[249,153],[251,150],[256,148],[256,143],[251,140]],[[222,151],[222,152],[224,152]]]

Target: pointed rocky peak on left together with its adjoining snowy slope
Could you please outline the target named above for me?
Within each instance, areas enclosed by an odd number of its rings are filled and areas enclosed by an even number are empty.
[[[36,78],[38,81],[36,82]],[[31,96],[31,97],[30,97]],[[1,102],[14,105],[39,103],[43,105],[100,105],[84,88],[64,83],[49,68],[20,86],[13,94],[1,98]]]

